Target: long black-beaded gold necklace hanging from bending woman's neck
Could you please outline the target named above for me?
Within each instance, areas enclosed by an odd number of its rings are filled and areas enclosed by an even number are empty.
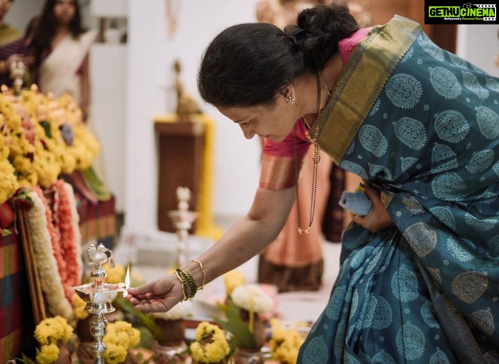
[[[312,162],[313,162],[313,168],[312,168],[312,196],[310,199],[310,220],[308,222],[308,227],[306,229],[301,228],[301,216],[300,216],[300,202],[298,198],[298,177],[299,177],[299,168],[298,168],[298,151],[296,148],[296,124],[294,124],[293,128],[293,147],[294,147],[294,178],[295,178],[295,191],[296,191],[296,209],[298,213],[298,233],[300,234],[308,234],[310,233],[310,229],[312,227],[313,223],[313,218],[315,215],[315,197],[317,194],[317,169],[318,169],[318,164],[320,161],[320,150],[319,150],[319,133],[321,129],[321,123],[320,123],[320,107],[322,105],[322,86],[325,85],[324,79],[322,78],[322,74],[320,71],[317,71],[315,74],[315,79],[317,81],[317,108],[315,110],[315,130],[313,132],[313,139],[312,139],[312,144],[313,144],[313,154],[312,154]],[[327,85],[325,85],[327,93],[329,93],[329,89],[327,88]],[[310,128],[310,125],[306,122],[305,118],[302,117],[303,121],[307,125],[308,128]]]

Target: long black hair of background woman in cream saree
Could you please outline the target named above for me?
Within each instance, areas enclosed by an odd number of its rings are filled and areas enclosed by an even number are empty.
[[[38,25],[33,34],[31,46],[35,56],[35,65],[39,66],[45,52],[50,49],[52,38],[57,30],[57,20],[54,16],[54,6],[58,0],[46,0],[41,12]],[[80,34],[85,32],[81,24],[80,6],[78,0],[73,0],[75,11],[74,16],[69,22],[69,31],[74,38],[78,38]]]

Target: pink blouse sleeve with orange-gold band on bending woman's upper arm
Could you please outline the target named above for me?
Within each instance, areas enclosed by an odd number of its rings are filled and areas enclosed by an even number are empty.
[[[303,158],[310,142],[303,121],[296,121],[296,152],[298,167],[301,168]],[[295,185],[294,176],[294,141],[293,131],[280,142],[265,139],[261,160],[260,188],[267,190],[283,190]]]

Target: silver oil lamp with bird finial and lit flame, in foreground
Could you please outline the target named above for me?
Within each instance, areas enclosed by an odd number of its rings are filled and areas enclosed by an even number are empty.
[[[114,268],[114,256],[110,249],[102,244],[95,248],[92,244],[87,249],[87,256],[89,266],[92,267],[90,273],[92,283],[80,285],[74,289],[76,294],[87,303],[83,311],[95,315],[90,320],[90,333],[95,339],[92,352],[95,355],[95,363],[104,364],[102,356],[107,349],[102,341],[107,332],[107,319],[104,315],[115,311],[111,302],[114,301],[118,292],[123,292],[125,295],[128,287],[125,286],[125,283],[110,284],[104,282],[107,274],[102,265],[108,262],[111,268]]]

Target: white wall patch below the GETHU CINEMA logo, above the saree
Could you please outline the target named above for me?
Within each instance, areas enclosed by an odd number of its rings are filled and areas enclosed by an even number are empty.
[[[498,77],[499,67],[494,60],[499,54],[499,25],[458,25],[457,54]]]

